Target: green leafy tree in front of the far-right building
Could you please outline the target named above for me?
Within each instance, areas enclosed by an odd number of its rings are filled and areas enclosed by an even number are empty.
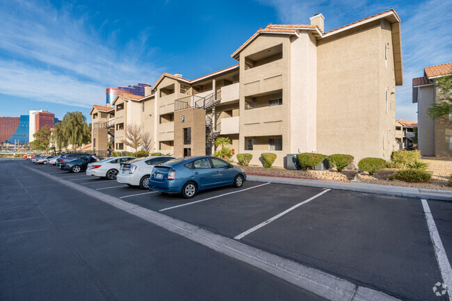
[[[442,101],[433,104],[427,109],[427,114],[432,119],[452,113],[452,70],[449,75],[438,77],[435,81],[435,86],[442,96]]]

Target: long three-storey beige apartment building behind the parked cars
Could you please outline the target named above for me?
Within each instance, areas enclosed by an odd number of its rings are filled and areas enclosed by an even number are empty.
[[[277,154],[277,166],[299,152],[389,158],[398,149],[395,87],[403,83],[396,12],[328,32],[323,15],[310,21],[259,29],[234,51],[232,67],[192,80],[163,73],[142,99],[118,95],[116,131],[141,123],[154,151],[175,156],[211,154],[225,136],[255,165],[263,152]],[[122,120],[118,106],[128,112]]]

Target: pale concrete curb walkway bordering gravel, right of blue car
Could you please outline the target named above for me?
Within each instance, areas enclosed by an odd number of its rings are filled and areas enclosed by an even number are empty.
[[[282,177],[263,177],[263,176],[247,176],[249,181],[271,182],[280,184],[291,184],[300,186],[312,186],[321,188],[332,188],[341,190],[360,191],[362,193],[379,193],[380,195],[398,195],[401,197],[419,197],[421,199],[444,200],[452,202],[452,191],[448,190],[433,190],[423,188],[389,186],[366,184],[357,182],[335,182],[335,181],[321,181],[309,179],[291,179]]]

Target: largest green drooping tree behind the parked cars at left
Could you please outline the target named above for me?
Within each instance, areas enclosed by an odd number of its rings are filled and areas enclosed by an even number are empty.
[[[62,130],[63,136],[67,138],[67,144],[72,145],[73,150],[90,142],[90,128],[81,112],[67,112],[63,117]]]

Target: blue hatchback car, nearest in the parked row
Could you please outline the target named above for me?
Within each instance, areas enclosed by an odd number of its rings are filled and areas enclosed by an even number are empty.
[[[197,191],[221,186],[241,187],[246,174],[231,163],[212,156],[188,156],[156,165],[149,180],[150,190],[181,193],[186,199]]]

